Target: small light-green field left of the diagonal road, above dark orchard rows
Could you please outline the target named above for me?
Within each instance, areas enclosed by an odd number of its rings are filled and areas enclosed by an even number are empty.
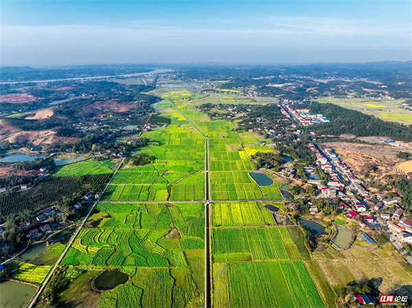
[[[95,161],[82,161],[80,163],[72,163],[58,168],[58,171],[56,171],[56,173],[53,176],[86,176],[89,174],[113,173],[113,170],[106,166],[107,163],[97,163]]]

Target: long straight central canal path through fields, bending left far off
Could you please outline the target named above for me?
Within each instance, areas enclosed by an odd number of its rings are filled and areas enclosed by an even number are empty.
[[[186,115],[174,104],[172,100],[174,108],[183,117],[190,123],[192,126],[205,138],[205,235],[206,235],[206,249],[205,249],[205,259],[206,259],[206,266],[205,266],[205,307],[209,308],[212,307],[211,305],[211,254],[210,254],[210,215],[209,213],[211,210],[211,199],[210,199],[210,185],[209,185],[209,139],[197,128],[196,125],[188,118]],[[170,201],[170,200],[169,200]],[[176,202],[176,201],[171,201]]]

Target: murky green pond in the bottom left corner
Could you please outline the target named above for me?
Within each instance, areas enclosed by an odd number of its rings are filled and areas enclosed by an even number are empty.
[[[0,283],[0,307],[2,308],[24,308],[30,298],[36,292],[36,287],[15,283],[13,281],[3,281]]]

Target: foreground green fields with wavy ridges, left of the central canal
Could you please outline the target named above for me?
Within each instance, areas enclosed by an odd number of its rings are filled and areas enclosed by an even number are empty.
[[[99,307],[198,307],[204,298],[204,248],[203,204],[100,203],[62,264],[129,275],[126,284],[102,293]],[[69,269],[69,289],[84,286],[84,274],[72,276]]]

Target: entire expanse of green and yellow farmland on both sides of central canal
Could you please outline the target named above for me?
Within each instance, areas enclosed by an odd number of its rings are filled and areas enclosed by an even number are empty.
[[[311,257],[303,250],[300,229],[274,226],[262,202],[239,201],[282,199],[279,182],[260,187],[249,176],[255,170],[251,155],[271,151],[259,146],[265,140],[253,132],[236,132],[229,121],[211,121],[193,104],[211,99],[207,95],[155,91],[175,104],[158,105],[170,124],[144,132],[141,137],[149,142],[135,150],[155,161],[125,163],[113,177],[62,259],[69,279],[60,293],[62,303],[95,308],[204,306],[205,138],[176,106],[208,139],[211,199],[232,200],[211,205],[214,305],[325,307],[323,288],[329,283],[324,279],[319,286],[311,279],[304,263]],[[233,101],[250,103],[237,96],[233,93]],[[225,104],[232,100],[220,93],[211,97]],[[49,252],[62,248],[52,246]],[[115,269],[128,274],[128,281],[93,292],[91,281]],[[73,296],[76,303],[70,303]]]

